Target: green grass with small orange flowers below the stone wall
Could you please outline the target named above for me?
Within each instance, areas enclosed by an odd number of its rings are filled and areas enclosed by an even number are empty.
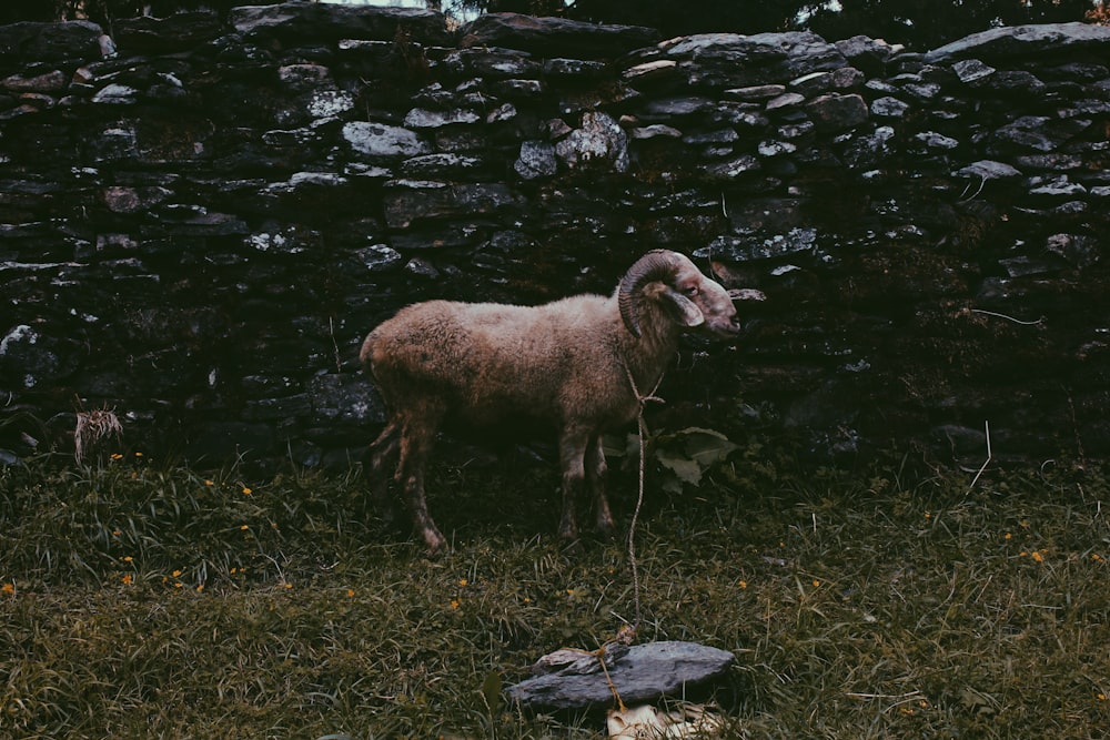
[[[642,640],[731,650],[729,738],[1098,738],[1100,473],[784,473],[649,486]],[[598,738],[505,704],[541,655],[633,617],[623,546],[552,537],[557,476],[441,465],[426,558],[356,474],[244,480],[115,459],[0,470],[0,734]],[[614,476],[626,516],[635,480]],[[503,496],[512,495],[505,506]]]

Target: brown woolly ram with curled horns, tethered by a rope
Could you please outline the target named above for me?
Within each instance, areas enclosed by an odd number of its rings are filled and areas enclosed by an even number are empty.
[[[734,338],[728,291],[688,257],[655,250],[610,296],[538,306],[428,301],[402,308],[362,345],[360,359],[390,412],[370,448],[371,487],[386,507],[389,467],[430,550],[446,540],[428,515],[424,466],[445,425],[494,427],[527,417],[557,430],[563,474],[558,534],[577,537],[575,507],[592,494],[598,529],[613,516],[601,436],[634,420],[676,356],[684,332]]]

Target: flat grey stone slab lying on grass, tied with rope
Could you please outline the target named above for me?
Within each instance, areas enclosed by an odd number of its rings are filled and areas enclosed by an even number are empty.
[[[605,666],[627,704],[679,693],[724,673],[735,656],[697,642],[664,641],[610,646]],[[613,692],[597,658],[576,650],[557,650],[541,658],[533,678],[505,689],[529,709],[583,709],[610,703]]]

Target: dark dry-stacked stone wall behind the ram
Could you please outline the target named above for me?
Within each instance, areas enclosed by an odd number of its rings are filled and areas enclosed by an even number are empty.
[[[925,54],[301,2],[0,27],[4,413],[345,459],[397,307],[607,293],[666,246],[768,301],[657,424],[1104,454],[1108,60],[1080,24]]]

